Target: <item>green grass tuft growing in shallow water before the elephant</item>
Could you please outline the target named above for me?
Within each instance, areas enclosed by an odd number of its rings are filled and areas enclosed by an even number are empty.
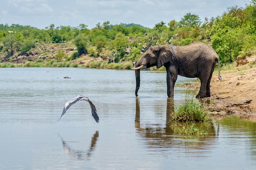
[[[172,121],[210,121],[211,118],[197,99],[186,97],[184,104],[171,113]]]

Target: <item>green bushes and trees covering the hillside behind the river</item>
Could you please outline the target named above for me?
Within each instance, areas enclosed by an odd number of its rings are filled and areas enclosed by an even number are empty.
[[[55,27],[51,24],[45,29],[37,29],[19,24],[0,24],[0,59],[11,61],[8,59],[15,54],[31,55],[31,49],[39,51],[40,43],[72,42],[77,51],[70,56],[59,51],[53,56],[58,64],[39,60],[37,64],[30,62],[23,66],[70,66],[60,63],[72,63],[72,60],[86,54],[95,58],[106,56],[108,62],[88,63],[83,65],[85,67],[126,69],[149,46],[187,45],[200,41],[211,45],[220,57],[220,64],[225,65],[234,62],[238,55],[251,55],[256,48],[256,0],[250,1],[245,8],[229,7],[221,16],[205,18],[204,22],[198,15],[187,13],[180,21],[159,22],[152,29],[138,24],[112,25],[109,21],[98,23],[92,29],[87,27],[85,24],[76,27]],[[47,55],[48,51],[44,53]]]

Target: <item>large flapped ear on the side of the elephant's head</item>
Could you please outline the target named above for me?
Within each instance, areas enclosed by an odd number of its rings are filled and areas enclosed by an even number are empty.
[[[173,53],[171,52],[171,48],[162,46],[162,48],[160,48],[158,51],[157,68],[160,68],[165,63],[170,62],[172,56]]]

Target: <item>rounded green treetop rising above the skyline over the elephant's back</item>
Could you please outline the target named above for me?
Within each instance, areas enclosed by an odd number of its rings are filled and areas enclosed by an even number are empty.
[[[195,27],[195,26],[200,26],[201,23],[202,22],[198,15],[186,13],[186,15],[184,15],[184,18],[182,18],[180,20],[180,22],[178,23],[178,26],[180,26],[180,27],[185,27],[185,26]]]

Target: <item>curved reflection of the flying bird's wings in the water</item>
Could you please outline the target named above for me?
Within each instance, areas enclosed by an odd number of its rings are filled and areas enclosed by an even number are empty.
[[[59,135],[59,134],[58,134]],[[91,146],[88,149],[88,151],[84,151],[84,150],[75,150],[72,149],[66,141],[64,141],[64,139],[61,137],[61,135],[59,135],[59,137],[61,138],[62,144],[63,144],[63,148],[64,150],[67,152],[67,155],[69,155],[70,157],[74,157],[78,160],[84,160],[85,157],[91,157],[92,152],[95,149],[96,146],[96,142],[98,140],[99,137],[99,131],[96,131],[94,133],[94,135],[92,136],[92,141],[91,141]]]

